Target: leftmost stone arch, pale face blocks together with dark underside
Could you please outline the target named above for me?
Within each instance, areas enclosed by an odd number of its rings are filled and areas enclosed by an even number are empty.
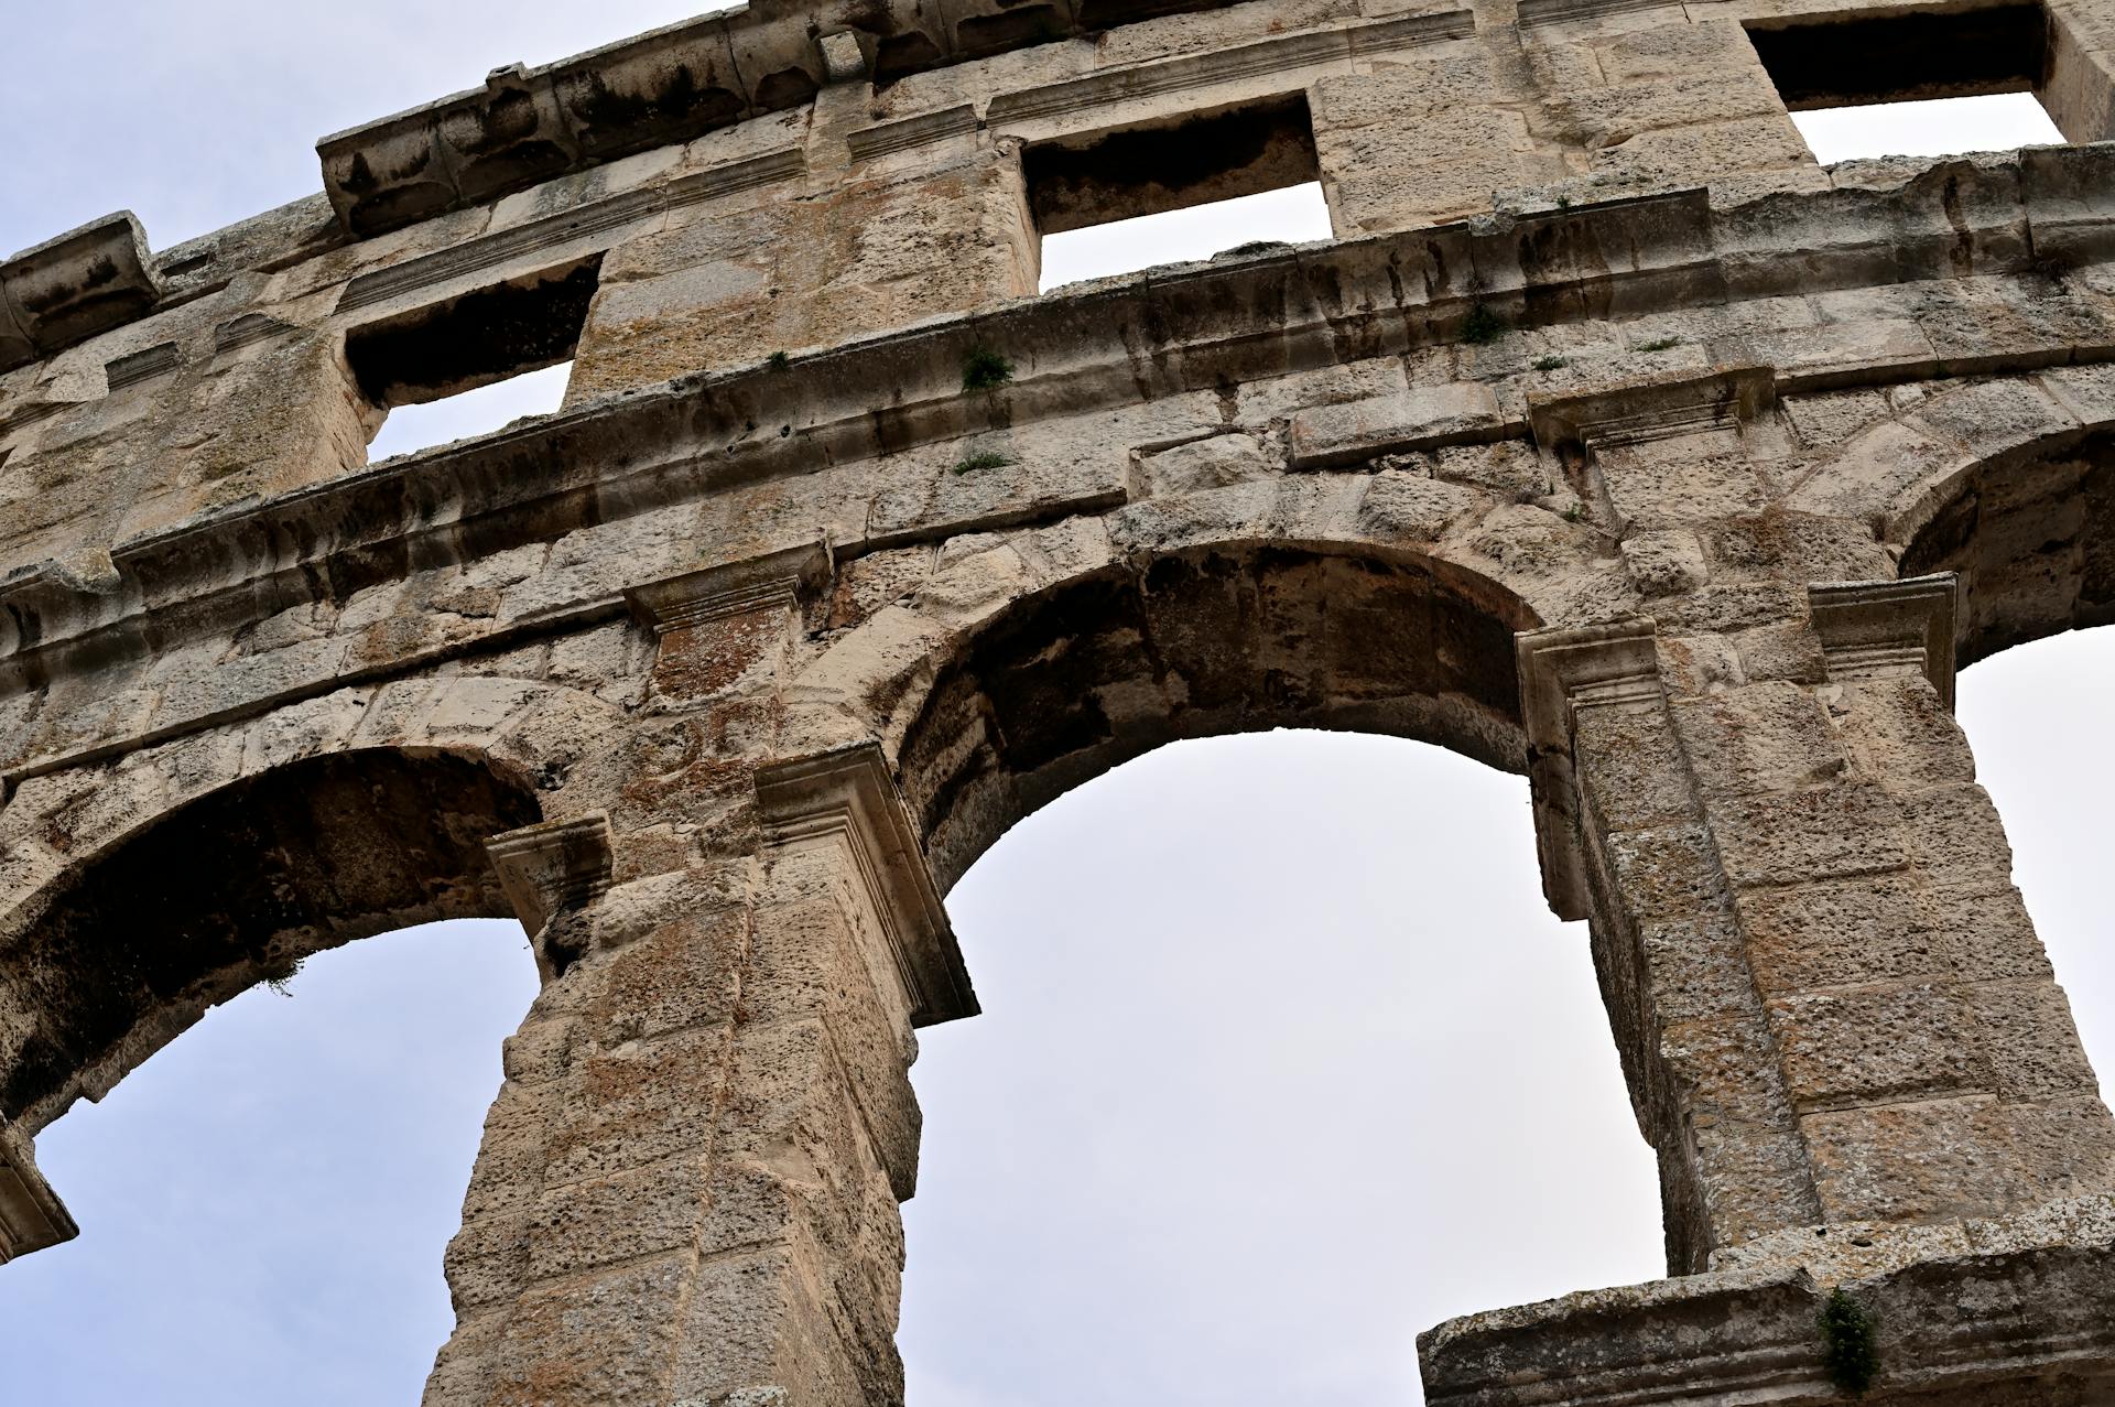
[[[209,1007],[355,937],[514,918],[484,853],[565,817],[594,696],[457,677],[341,690],[21,783],[0,853],[0,1128],[102,1098]]]

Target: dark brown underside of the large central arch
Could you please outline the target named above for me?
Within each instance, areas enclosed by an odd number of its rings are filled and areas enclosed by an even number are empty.
[[[945,891],[1060,793],[1176,738],[1335,728],[1525,770],[1531,611],[1421,563],[1214,546],[1015,603],[937,675],[899,753]]]

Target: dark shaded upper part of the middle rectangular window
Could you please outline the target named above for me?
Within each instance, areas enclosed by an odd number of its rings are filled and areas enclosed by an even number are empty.
[[[1318,169],[1305,93],[1022,152],[1045,235],[1282,190]]]

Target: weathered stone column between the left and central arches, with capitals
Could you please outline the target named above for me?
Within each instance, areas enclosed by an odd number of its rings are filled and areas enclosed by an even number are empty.
[[[639,592],[654,702],[592,825],[493,842],[546,988],[448,1250],[427,1403],[880,1407],[914,1024],[973,1011],[876,749],[772,760],[804,550]]]

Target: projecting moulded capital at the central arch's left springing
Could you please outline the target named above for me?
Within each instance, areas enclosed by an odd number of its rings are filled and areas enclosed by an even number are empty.
[[[757,772],[768,844],[842,836],[880,914],[888,952],[909,997],[912,1024],[977,1013],[977,997],[954,942],[954,925],[918,848],[909,808],[882,749],[859,747],[780,762]]]

